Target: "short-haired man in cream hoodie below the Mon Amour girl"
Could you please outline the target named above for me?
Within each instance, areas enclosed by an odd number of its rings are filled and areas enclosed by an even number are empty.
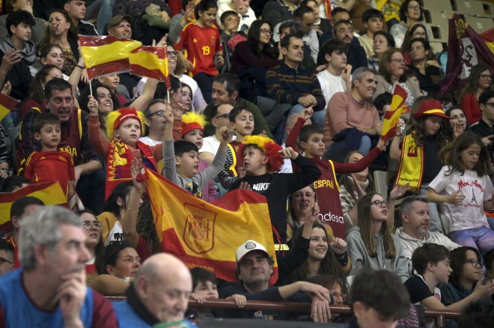
[[[444,234],[429,231],[429,205],[427,198],[421,196],[405,197],[400,204],[402,226],[396,229],[396,236],[403,245],[403,253],[409,262],[409,274],[412,276],[412,254],[418,247],[434,243],[446,247],[449,251],[461,247]]]

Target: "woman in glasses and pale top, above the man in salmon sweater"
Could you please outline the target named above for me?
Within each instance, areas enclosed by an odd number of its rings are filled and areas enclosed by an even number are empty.
[[[397,84],[408,93],[405,100],[408,107],[412,107],[413,101],[421,96],[418,80],[405,71],[405,59],[398,48],[390,48],[382,54],[375,78],[377,85],[373,99],[386,91],[393,94]]]

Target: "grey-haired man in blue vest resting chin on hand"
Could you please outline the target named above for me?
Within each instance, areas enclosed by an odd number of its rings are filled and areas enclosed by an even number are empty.
[[[0,277],[0,327],[118,327],[111,304],[86,287],[82,220],[49,206],[20,225],[22,268]]]

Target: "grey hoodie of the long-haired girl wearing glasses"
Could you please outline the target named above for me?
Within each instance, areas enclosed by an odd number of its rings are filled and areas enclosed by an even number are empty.
[[[395,235],[392,235],[392,237],[396,249],[394,258],[385,257],[384,241],[380,234],[373,237],[377,248],[377,256],[371,257],[362,240],[360,227],[353,226],[348,229],[345,240],[348,243],[348,255],[352,259],[352,268],[349,275],[353,276],[357,274],[364,267],[373,270],[386,269],[396,273],[402,282],[407,281],[409,278],[407,257],[403,252],[403,246],[399,238]]]

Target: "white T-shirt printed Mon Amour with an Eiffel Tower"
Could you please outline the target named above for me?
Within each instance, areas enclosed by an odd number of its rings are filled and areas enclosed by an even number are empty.
[[[464,175],[454,170],[450,175],[449,167],[443,166],[429,188],[440,195],[451,195],[460,191],[465,198],[461,205],[441,203],[443,225],[446,233],[472,228],[489,227],[484,214],[484,202],[491,199],[494,187],[489,176],[479,177],[477,172],[465,170]]]

